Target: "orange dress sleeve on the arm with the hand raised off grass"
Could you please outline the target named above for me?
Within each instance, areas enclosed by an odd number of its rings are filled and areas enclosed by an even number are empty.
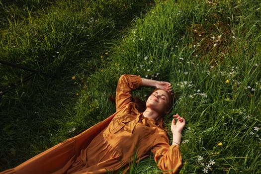
[[[160,135],[152,149],[158,168],[165,174],[176,174],[182,165],[179,146],[170,145],[167,134]]]

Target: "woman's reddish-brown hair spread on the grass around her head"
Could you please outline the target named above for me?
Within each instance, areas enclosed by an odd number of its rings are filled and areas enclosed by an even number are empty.
[[[159,90],[159,88],[156,88],[154,89],[149,95],[147,95],[146,97],[146,101],[147,99],[149,98],[149,96],[155,92]],[[175,102],[176,100],[176,97],[175,97],[175,93],[174,92],[167,92],[168,93],[168,98],[169,98],[169,102],[168,102],[168,106],[167,106],[167,109],[166,111],[164,112],[164,115],[161,115],[158,120],[156,120],[157,124],[162,128],[164,129],[164,126],[163,126],[163,119],[165,117],[165,115],[167,115],[168,113],[171,112],[171,110],[173,109],[173,103]],[[109,95],[109,99],[112,101],[112,102],[115,102],[115,96],[113,95]],[[136,106],[136,109],[139,111],[139,112],[144,112],[146,110],[146,101],[143,101],[142,99],[140,99],[139,97],[132,97],[132,102],[135,103],[135,106]]]

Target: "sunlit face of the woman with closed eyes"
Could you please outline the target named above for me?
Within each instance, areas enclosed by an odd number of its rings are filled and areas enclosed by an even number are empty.
[[[155,110],[159,114],[163,114],[167,111],[169,100],[168,92],[158,89],[149,96],[146,102],[146,107]]]

